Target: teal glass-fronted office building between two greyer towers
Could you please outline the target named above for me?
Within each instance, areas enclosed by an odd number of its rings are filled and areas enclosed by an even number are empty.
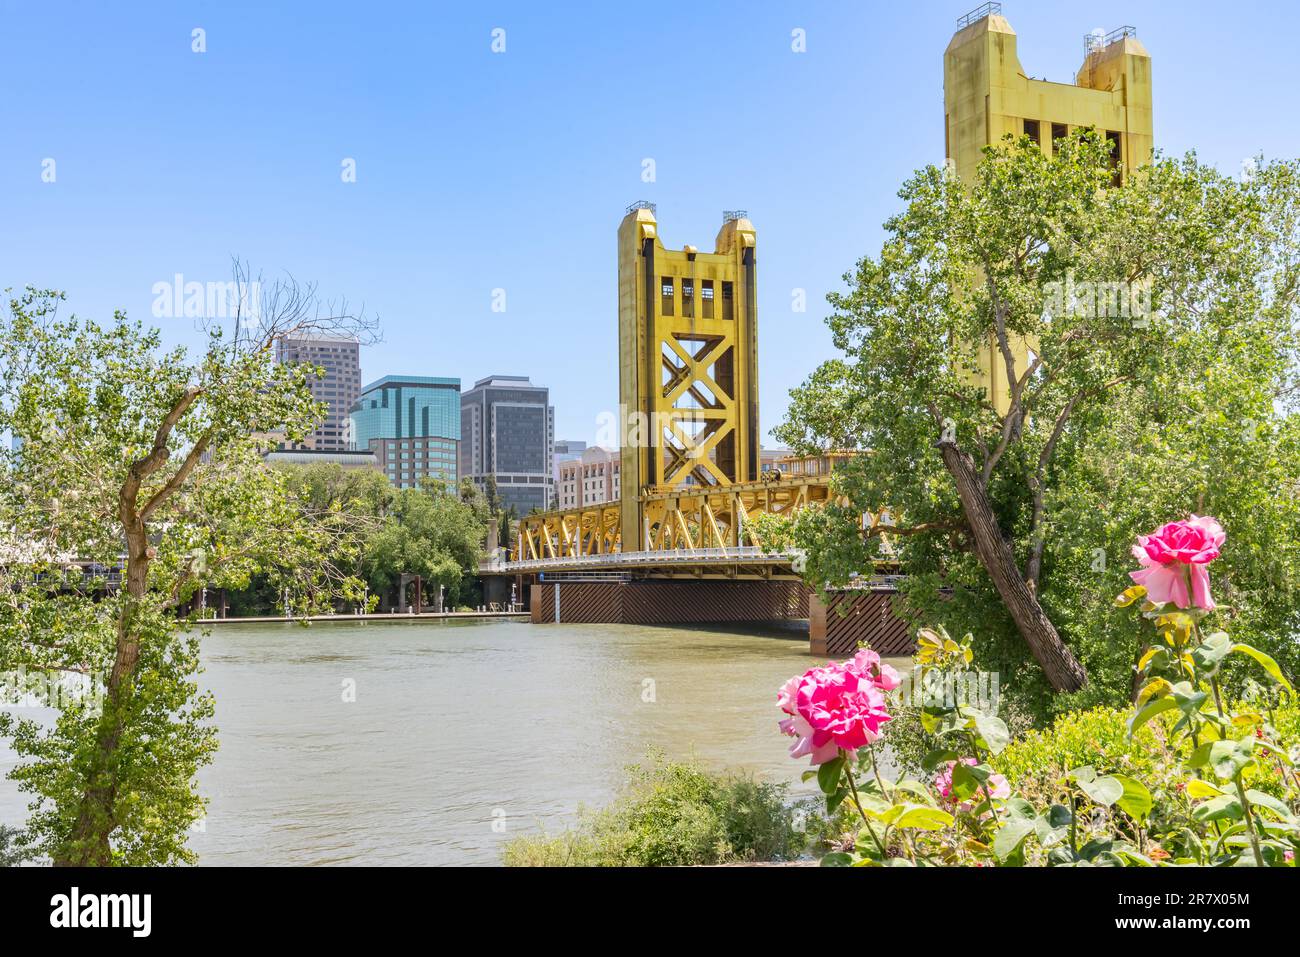
[[[460,454],[460,380],[385,376],[361,389],[352,407],[354,447],[399,489],[426,478],[455,485]]]

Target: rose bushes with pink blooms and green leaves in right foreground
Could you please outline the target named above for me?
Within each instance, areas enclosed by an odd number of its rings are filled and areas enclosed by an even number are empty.
[[[1123,711],[1079,711],[1013,742],[996,696],[953,693],[979,687],[965,680],[972,638],[942,629],[920,632],[902,694],[870,649],[792,677],[777,696],[790,755],[810,758],[827,811],[849,807],[853,822],[822,863],[1295,866],[1300,713],[1278,662],[1221,629],[1209,567],[1226,541],[1206,516],[1138,538],[1135,584],[1114,599],[1139,614],[1132,637],[1114,638],[1138,661]],[[928,750],[904,749],[890,779],[900,701]]]

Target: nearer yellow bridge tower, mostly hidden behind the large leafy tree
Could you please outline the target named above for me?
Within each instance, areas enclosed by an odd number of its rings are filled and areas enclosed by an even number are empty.
[[[1154,144],[1150,109],[1150,55],[1138,31],[1123,26],[1083,38],[1083,65],[1074,83],[1027,77],[1017,55],[1015,30],[1002,4],[987,3],[957,21],[944,52],[944,146],[948,163],[965,182],[985,146],[1027,135],[1045,153],[1079,127],[1112,142],[1115,182],[1150,163]],[[1019,368],[1032,343],[1019,342]],[[979,354],[980,381],[993,406],[1008,407],[1006,365],[992,347]]]

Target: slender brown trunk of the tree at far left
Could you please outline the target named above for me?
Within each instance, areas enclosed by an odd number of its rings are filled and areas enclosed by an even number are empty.
[[[117,623],[117,651],[113,670],[104,689],[104,709],[95,732],[95,750],[90,755],[86,787],[82,792],[77,823],[65,845],[55,854],[56,867],[108,867],[113,862],[109,835],[117,828],[117,750],[121,744],[124,715],[130,703],[135,666],[140,658],[139,636],[134,616],[136,602],[144,597],[148,583],[148,538],[144,523],[126,532],[127,598]]]

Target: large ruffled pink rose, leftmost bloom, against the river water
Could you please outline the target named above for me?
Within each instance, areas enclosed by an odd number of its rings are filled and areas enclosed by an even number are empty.
[[[809,754],[814,765],[824,765],[841,750],[857,750],[880,737],[880,726],[889,720],[880,683],[890,676],[872,674],[878,670],[879,657],[866,651],[842,664],[810,668],[781,685],[776,703],[789,718],[779,727],[797,739],[792,758]],[[897,679],[892,668],[890,675]]]

